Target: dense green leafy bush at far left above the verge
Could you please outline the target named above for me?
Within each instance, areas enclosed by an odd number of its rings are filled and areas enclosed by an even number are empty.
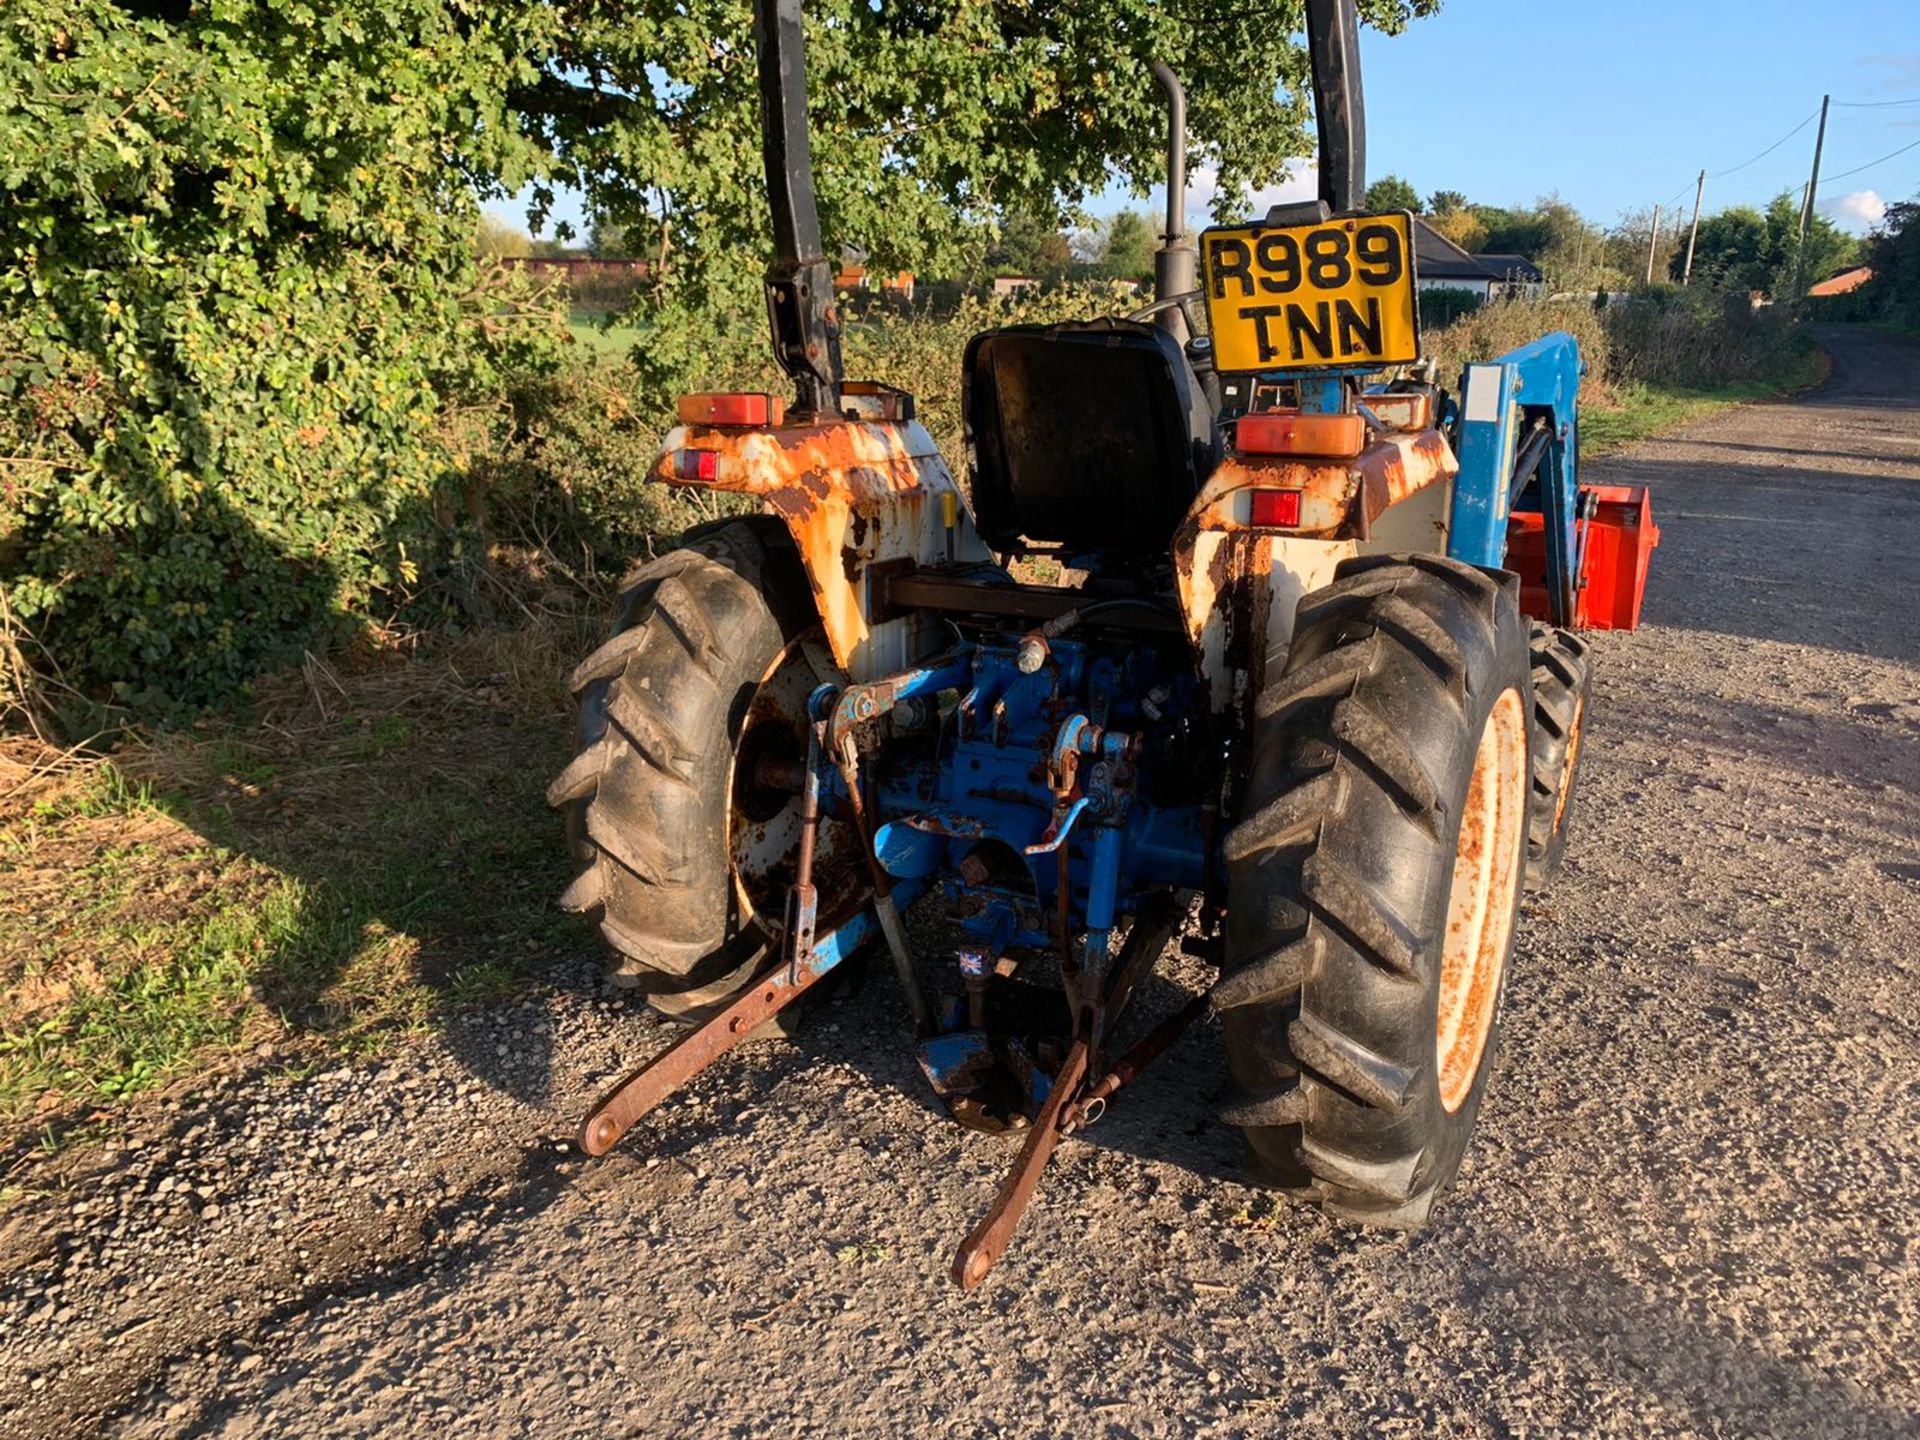
[[[507,88],[547,23],[8,6],[0,580],[69,682],[219,701],[449,543],[449,417],[540,324],[476,261],[474,177],[538,161]]]

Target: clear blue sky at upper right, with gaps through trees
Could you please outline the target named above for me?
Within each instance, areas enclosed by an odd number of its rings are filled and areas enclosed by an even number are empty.
[[[1461,190],[1496,205],[1557,192],[1590,219],[1659,204],[1705,211],[1799,194],[1814,125],[1755,159],[1834,96],[1820,209],[1862,232],[1891,200],[1920,196],[1920,0],[1448,0],[1400,36],[1363,31],[1369,173],[1425,196]],[[1849,102],[1849,104],[1839,104]],[[1747,163],[1751,161],[1751,163]],[[1736,169],[1738,167],[1738,169]],[[1734,171],[1730,175],[1716,175]],[[1290,184],[1250,198],[1311,194]],[[1204,223],[1208,177],[1190,194]],[[1114,190],[1096,209],[1148,204]],[[524,205],[490,205],[520,223]],[[563,198],[557,219],[580,225]]]

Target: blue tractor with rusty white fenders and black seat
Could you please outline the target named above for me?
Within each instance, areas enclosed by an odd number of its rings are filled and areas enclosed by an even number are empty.
[[[1574,476],[1574,342],[1438,384],[1415,221],[1361,209],[1352,0],[1309,0],[1321,198],[1188,244],[1185,96],[1156,67],[1154,301],[975,336],[962,486],[910,394],[841,372],[799,10],[755,8],[795,392],[685,396],[653,470],[760,513],[636,570],[572,676],[563,904],[689,1025],[582,1148],[874,943],[948,1112],[1021,1139],[960,1284],[1058,1140],[1204,1014],[1258,1179],[1419,1225],[1480,1108],[1521,895],[1567,835],[1605,528]],[[1071,584],[1016,578],[1039,559]],[[916,948],[908,906],[950,948]],[[1121,1048],[1171,943],[1217,979]]]

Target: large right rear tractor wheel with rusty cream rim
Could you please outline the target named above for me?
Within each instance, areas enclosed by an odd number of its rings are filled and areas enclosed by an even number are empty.
[[[1256,699],[1213,1004],[1261,1181],[1411,1229],[1459,1169],[1528,839],[1517,584],[1436,555],[1346,561]]]

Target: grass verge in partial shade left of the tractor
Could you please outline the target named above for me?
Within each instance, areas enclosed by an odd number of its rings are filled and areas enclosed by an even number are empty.
[[[0,1140],[52,1142],[261,1044],[369,1050],[580,935],[543,787],[586,624],[309,660],[248,718],[0,755]],[[12,793],[8,793],[12,789]]]

